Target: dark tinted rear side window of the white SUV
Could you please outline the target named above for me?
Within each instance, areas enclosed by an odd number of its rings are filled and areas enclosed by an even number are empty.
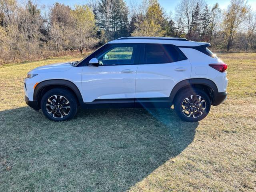
[[[172,45],[168,44],[146,44],[144,63],[145,64],[161,64],[172,63],[179,60],[184,60],[185,56],[179,52]]]

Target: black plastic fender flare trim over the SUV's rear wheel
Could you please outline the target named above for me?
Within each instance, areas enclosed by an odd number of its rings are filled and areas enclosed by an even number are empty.
[[[204,78],[186,79],[186,80],[182,80],[181,82],[178,82],[174,86],[174,88],[170,93],[170,97],[169,97],[170,101],[173,103],[174,97],[176,96],[178,91],[184,87],[189,87],[190,85],[205,85],[212,89],[214,95],[218,94],[218,88],[216,84],[210,79],[204,79]]]

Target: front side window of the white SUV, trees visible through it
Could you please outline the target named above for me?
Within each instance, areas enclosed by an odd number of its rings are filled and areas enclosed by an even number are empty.
[[[130,65],[134,64],[135,50],[136,45],[113,45],[96,58],[100,65]]]

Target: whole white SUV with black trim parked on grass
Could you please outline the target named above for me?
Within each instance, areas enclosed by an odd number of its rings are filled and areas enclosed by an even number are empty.
[[[82,108],[164,107],[185,121],[206,117],[226,97],[227,65],[185,38],[122,37],[76,62],[28,72],[26,103],[50,120],[69,120]]]

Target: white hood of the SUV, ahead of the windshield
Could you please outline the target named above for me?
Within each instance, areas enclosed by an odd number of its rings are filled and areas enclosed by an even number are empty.
[[[54,63],[50,65],[44,65],[37,68],[34,68],[28,74],[40,74],[40,73],[47,73],[47,72],[61,72],[61,71],[67,71],[72,66],[70,65],[70,62],[64,62],[64,63]]]

